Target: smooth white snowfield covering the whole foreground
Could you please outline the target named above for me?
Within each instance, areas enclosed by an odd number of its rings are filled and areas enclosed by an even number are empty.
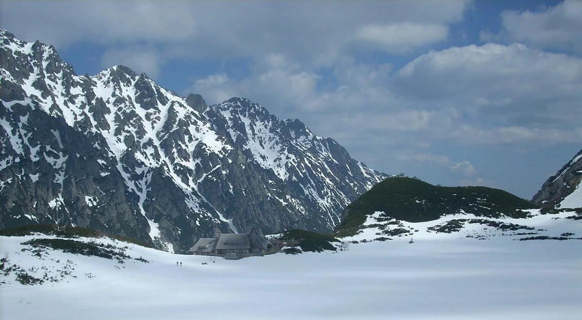
[[[28,237],[0,237],[23,268]],[[582,241],[441,239],[351,244],[337,254],[226,261],[129,245],[148,264],[64,254],[68,282],[0,286],[17,319],[575,319]],[[182,261],[183,266],[176,266]],[[208,262],[202,265],[201,262]],[[86,273],[94,278],[87,278]]]

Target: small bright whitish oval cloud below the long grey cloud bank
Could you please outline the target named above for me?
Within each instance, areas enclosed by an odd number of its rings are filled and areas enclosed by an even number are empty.
[[[449,33],[443,24],[367,24],[357,37],[391,54],[406,54],[414,49],[445,40]]]

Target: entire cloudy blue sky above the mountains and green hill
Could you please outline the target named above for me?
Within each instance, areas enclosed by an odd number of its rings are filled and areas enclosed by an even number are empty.
[[[582,148],[581,1],[0,1],[79,74],[250,98],[374,169],[531,198]]]

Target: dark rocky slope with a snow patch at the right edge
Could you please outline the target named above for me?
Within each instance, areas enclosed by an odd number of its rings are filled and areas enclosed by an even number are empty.
[[[549,177],[531,201],[546,208],[582,207],[581,180],[582,150],[555,175]]]

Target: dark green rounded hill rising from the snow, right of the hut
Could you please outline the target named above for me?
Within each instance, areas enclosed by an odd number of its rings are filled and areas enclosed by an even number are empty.
[[[356,234],[366,216],[375,211],[408,222],[425,222],[463,210],[467,214],[525,218],[520,209],[537,205],[506,191],[488,187],[441,187],[408,177],[392,177],[376,184],[343,212],[336,236]]]

